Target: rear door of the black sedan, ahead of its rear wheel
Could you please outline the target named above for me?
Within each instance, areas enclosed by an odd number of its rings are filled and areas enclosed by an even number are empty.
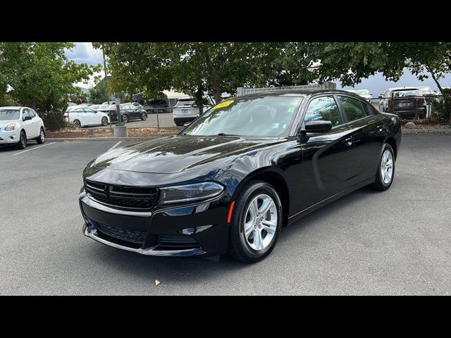
[[[383,120],[373,114],[372,107],[354,97],[338,95],[338,103],[351,128],[353,144],[352,184],[359,184],[376,175],[379,156],[385,139]]]

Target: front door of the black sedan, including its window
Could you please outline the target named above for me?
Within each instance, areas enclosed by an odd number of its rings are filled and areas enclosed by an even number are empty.
[[[304,123],[313,120],[328,120],[332,129],[325,133],[307,132],[300,138],[304,166],[300,177],[303,197],[300,211],[349,188],[353,175],[352,132],[335,96],[321,95],[309,100],[301,129]]]

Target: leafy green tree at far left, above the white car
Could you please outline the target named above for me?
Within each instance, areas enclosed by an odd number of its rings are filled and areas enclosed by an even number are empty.
[[[89,80],[99,65],[68,61],[64,51],[73,46],[69,42],[1,42],[0,82],[12,87],[8,96],[38,111],[54,111],[65,108],[69,95],[82,95],[73,83]],[[5,95],[4,85],[2,89]]]

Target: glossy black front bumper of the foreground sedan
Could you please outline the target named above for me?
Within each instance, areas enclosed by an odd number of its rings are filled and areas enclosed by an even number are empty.
[[[149,212],[111,208],[85,192],[79,201],[83,234],[102,244],[148,256],[211,256],[227,251],[227,207],[218,199]]]

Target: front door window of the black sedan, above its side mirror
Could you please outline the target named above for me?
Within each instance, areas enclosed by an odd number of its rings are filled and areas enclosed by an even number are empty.
[[[342,124],[340,111],[333,96],[321,96],[310,101],[304,122],[317,120],[330,121],[333,126]]]

